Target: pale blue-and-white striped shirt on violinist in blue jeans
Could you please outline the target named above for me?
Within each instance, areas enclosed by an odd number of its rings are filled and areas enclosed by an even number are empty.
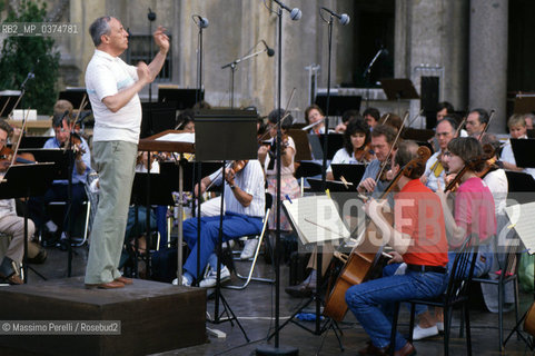
[[[210,175],[215,185],[221,185],[221,169]],[[264,217],[266,192],[264,189],[264,171],[258,160],[251,159],[234,178],[234,185],[252,196],[248,207],[244,207],[234,196],[227,181],[225,181],[225,208],[227,212],[242,214],[252,217]]]

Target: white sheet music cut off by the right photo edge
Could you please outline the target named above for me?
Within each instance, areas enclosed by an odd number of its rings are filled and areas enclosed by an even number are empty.
[[[509,217],[511,228],[516,230],[518,237],[531,255],[535,254],[535,201],[516,204],[505,208]]]

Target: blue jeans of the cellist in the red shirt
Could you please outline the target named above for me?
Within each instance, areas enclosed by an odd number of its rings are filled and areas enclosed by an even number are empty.
[[[448,274],[407,270],[405,275],[383,277],[350,287],[346,291],[346,303],[374,346],[380,348],[390,343],[395,303],[437,297],[444,293],[447,283]],[[406,343],[397,333],[396,350]]]

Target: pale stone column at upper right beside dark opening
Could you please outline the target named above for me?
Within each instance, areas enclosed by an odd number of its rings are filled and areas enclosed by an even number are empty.
[[[495,109],[488,129],[505,132],[508,0],[470,0],[469,107]]]

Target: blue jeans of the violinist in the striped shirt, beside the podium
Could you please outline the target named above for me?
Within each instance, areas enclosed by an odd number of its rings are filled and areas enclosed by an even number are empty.
[[[222,216],[222,241],[228,241],[246,235],[256,235],[261,231],[260,217],[250,217],[241,214],[227,212]],[[197,218],[184,221],[184,239],[191,248],[191,253],[184,265],[184,269],[198,278],[205,269],[208,258],[216,249],[219,237],[219,216],[200,218],[200,271],[197,271]],[[214,266],[212,266],[214,267]]]

